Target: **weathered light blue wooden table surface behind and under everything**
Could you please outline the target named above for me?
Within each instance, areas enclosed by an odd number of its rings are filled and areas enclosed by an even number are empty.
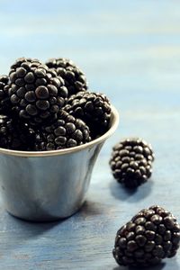
[[[0,1],[0,74],[19,57],[72,58],[92,91],[107,94],[121,121],[98,158],[84,207],[52,223],[17,220],[0,206],[0,269],[113,269],[117,229],[160,204],[180,220],[180,3]],[[113,180],[112,146],[139,136],[156,153],[148,184]],[[180,269],[180,252],[153,269]]]

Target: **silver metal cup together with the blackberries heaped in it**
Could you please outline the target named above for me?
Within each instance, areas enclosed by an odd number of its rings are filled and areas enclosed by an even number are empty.
[[[6,211],[66,218],[85,201],[94,162],[118,125],[105,94],[67,58],[18,58],[0,76],[0,184]]]

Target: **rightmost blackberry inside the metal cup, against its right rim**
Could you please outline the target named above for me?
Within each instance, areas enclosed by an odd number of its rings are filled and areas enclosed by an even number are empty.
[[[73,94],[67,100],[64,110],[85,121],[93,138],[103,134],[109,127],[112,110],[105,94],[90,92]]]

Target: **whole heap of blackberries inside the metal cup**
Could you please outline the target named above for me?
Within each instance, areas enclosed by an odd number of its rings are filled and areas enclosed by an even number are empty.
[[[88,90],[67,58],[18,58],[0,76],[0,147],[42,151],[85,144],[108,130],[111,104]]]

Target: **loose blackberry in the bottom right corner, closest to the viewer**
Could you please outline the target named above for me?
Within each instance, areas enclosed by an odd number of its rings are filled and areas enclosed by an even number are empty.
[[[172,213],[151,206],[117,231],[112,255],[121,266],[151,266],[174,257],[179,242],[180,225]]]

